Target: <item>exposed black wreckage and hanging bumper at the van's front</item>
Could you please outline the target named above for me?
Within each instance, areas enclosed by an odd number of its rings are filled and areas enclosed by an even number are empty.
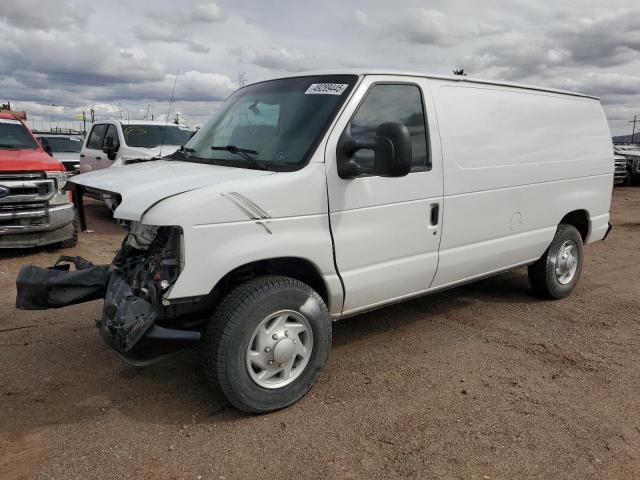
[[[110,265],[60,257],[50,268],[23,266],[16,307],[42,310],[103,298],[96,321],[103,340],[129,363],[152,363],[200,340],[184,319],[176,323],[176,306],[163,301],[180,274],[181,255],[180,227],[130,222]]]

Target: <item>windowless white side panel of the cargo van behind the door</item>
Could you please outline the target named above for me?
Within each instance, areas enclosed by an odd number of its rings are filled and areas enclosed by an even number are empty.
[[[431,288],[544,253],[562,217],[608,225],[613,147],[597,100],[433,82],[444,164],[440,262]]]

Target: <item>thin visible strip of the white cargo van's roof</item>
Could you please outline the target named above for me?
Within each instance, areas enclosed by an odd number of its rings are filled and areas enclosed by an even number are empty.
[[[479,83],[484,85],[498,85],[502,87],[522,88],[525,90],[536,90],[540,92],[559,93],[562,95],[572,95],[574,97],[592,98],[594,100],[600,100],[598,97],[587,95],[585,93],[571,92],[568,90],[561,90],[558,88],[547,88],[535,85],[524,85],[521,83],[506,82],[502,80],[487,80],[482,78],[467,77],[462,75],[435,75],[424,72],[412,72],[406,70],[394,70],[388,68],[341,68],[334,70],[314,70],[308,72],[293,73],[291,75],[280,76],[270,78],[268,80],[275,80],[276,78],[290,78],[290,77],[307,77],[312,75],[401,75],[404,77],[421,77],[421,78],[433,78],[436,80],[449,80],[452,82],[466,82],[466,83]],[[260,82],[254,82],[260,83]]]

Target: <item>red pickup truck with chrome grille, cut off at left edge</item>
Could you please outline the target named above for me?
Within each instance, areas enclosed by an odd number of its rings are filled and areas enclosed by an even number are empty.
[[[64,166],[52,158],[29,128],[0,113],[0,248],[78,240],[75,210]]]

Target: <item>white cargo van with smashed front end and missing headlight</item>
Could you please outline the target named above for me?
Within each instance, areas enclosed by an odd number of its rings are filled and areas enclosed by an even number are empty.
[[[104,297],[129,361],[200,342],[232,405],[275,410],[318,378],[332,320],[521,265],[568,295],[610,229],[612,152],[576,93],[377,70],[256,83],[169,158],[72,178],[119,197],[129,234],[109,267],[25,267],[18,306]]]

